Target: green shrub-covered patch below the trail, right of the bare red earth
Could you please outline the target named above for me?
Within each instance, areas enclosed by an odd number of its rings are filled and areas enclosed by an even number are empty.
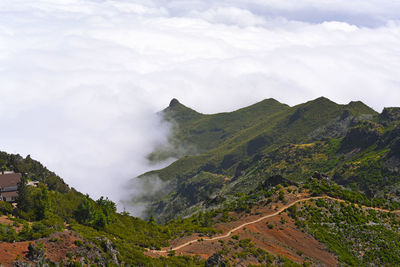
[[[383,266],[400,263],[398,216],[362,209],[354,204],[319,199],[299,205],[291,216],[352,266]]]

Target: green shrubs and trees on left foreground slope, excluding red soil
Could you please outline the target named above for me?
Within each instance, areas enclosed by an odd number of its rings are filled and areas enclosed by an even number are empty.
[[[0,224],[1,241],[32,241],[67,228],[87,240],[88,250],[89,246],[96,246],[101,252],[101,255],[94,259],[89,259],[88,255],[70,255],[71,258],[84,258],[86,263],[146,266],[204,265],[204,261],[199,258],[150,258],[143,253],[146,249],[168,246],[168,241],[177,236],[195,232],[214,234],[215,230],[203,214],[188,219],[171,220],[165,225],[156,224],[154,219],[144,221],[127,213],[117,213],[115,203],[107,198],[101,197],[95,201],[70,189],[58,176],[29,156],[23,158],[5,152],[1,152],[0,155],[4,168],[23,172],[17,207],[14,208],[7,202],[0,202],[0,215],[8,215],[13,221],[13,225]],[[28,180],[39,180],[41,183],[38,187],[27,186]],[[112,244],[116,252],[110,249],[108,244]],[[53,264],[49,260],[43,260],[41,261],[43,264],[46,262]],[[69,262],[71,263],[70,260]],[[73,264],[79,266],[80,263]]]

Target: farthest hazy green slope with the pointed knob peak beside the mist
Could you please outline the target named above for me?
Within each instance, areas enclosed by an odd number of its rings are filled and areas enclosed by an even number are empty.
[[[157,161],[167,157],[201,154],[218,147],[237,132],[288,108],[275,99],[265,99],[234,112],[207,115],[173,99],[161,112],[163,118],[172,125],[169,138],[171,146],[159,148],[149,158]]]

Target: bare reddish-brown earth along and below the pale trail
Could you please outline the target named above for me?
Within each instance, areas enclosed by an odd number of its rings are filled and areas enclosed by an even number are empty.
[[[291,203],[304,197],[304,195],[288,196],[287,203]],[[283,206],[283,203],[272,203],[268,205],[260,204],[252,210],[251,214],[232,212],[230,215],[236,218],[234,221],[218,223],[214,227],[225,234],[243,223],[252,222],[265,215],[273,214]],[[283,223],[282,218],[284,219]],[[255,248],[261,248],[275,256],[285,256],[286,258],[298,263],[304,263],[305,261],[311,260],[317,265],[338,265],[336,257],[327,250],[325,245],[318,242],[311,235],[302,232],[295,225],[293,219],[288,217],[285,212],[266,218],[260,222],[249,224],[235,231],[232,235],[238,235],[239,240],[250,239]],[[238,241],[232,239],[232,235],[222,239],[223,244],[218,240],[193,242],[188,246],[176,250],[175,255],[199,255],[206,259],[225,247],[225,249],[228,248],[229,250],[227,257],[237,265],[246,266],[248,264],[257,264],[257,259],[251,256],[245,260],[233,257],[235,252],[240,252],[240,248],[238,248]],[[199,235],[179,238],[173,240],[171,245],[172,247],[176,247],[177,245],[199,238],[201,238]],[[155,254],[156,253],[147,252],[147,255],[149,256],[156,256]],[[166,253],[157,254],[157,256],[166,256]]]

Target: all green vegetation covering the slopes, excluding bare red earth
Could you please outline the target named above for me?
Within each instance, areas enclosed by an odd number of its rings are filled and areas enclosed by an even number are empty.
[[[396,108],[378,115],[361,102],[338,105],[319,98],[289,107],[269,99],[232,113],[204,115],[173,100],[163,114],[174,124],[171,146],[150,157],[182,158],[151,172],[173,190],[153,203],[147,221],[117,213],[107,198],[93,200],[69,188],[29,156],[0,152],[0,167],[23,173],[17,208],[0,205],[0,212],[12,214],[14,221],[13,226],[0,226],[0,239],[37,240],[67,229],[79,233],[87,242],[84,246],[101,252],[97,260],[88,255],[71,259],[86,257],[87,263],[104,265],[200,266],[204,260],[198,257],[171,253],[150,258],[144,253],[168,247],[177,237],[214,235],[215,223],[234,219],[231,211],[251,213],[260,201],[284,203],[289,190],[281,185],[371,207],[400,207],[400,112]],[[193,146],[178,153],[181,144]],[[30,180],[40,181],[39,186],[26,186]],[[348,206],[322,201],[290,212],[299,227],[325,243],[345,264],[399,263],[398,240],[393,236],[398,235],[398,218]],[[237,246],[241,248],[237,258],[260,258],[264,264],[284,261],[271,260],[246,241],[238,240]],[[360,248],[368,252],[362,254]]]

